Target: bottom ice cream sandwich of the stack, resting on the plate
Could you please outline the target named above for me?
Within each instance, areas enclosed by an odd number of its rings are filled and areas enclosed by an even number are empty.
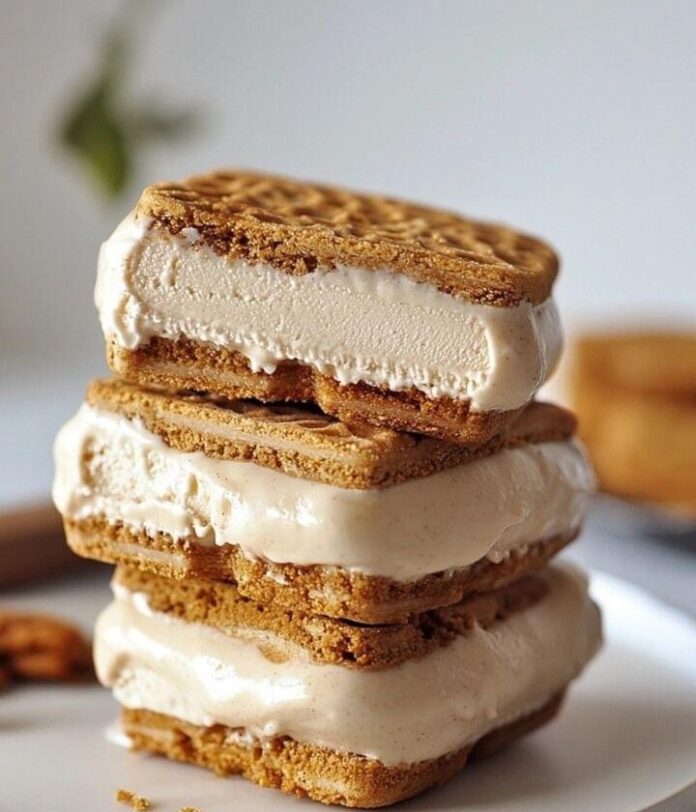
[[[584,578],[559,567],[405,626],[308,617],[137,569],[119,570],[114,590],[95,660],[135,749],[363,808],[549,721],[601,642]]]

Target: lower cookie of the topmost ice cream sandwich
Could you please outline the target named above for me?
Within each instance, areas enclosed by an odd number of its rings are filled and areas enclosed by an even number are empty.
[[[134,350],[124,349],[111,339],[106,359],[113,372],[141,386],[268,403],[315,403],[346,423],[371,423],[463,445],[487,442],[520,413],[519,409],[475,412],[468,400],[429,398],[417,389],[392,392],[366,383],[340,384],[295,362],[281,363],[272,374],[252,372],[241,353],[185,338],[175,342],[154,338]]]

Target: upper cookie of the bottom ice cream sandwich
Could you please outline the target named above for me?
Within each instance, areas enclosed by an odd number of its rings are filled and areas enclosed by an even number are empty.
[[[290,643],[316,662],[361,670],[390,668],[422,657],[475,626],[487,629],[533,606],[548,592],[543,576],[531,575],[453,606],[416,615],[408,623],[365,626],[275,602],[259,603],[243,596],[233,583],[201,578],[177,581],[133,567],[119,567],[115,581],[130,592],[146,595],[153,611],[252,640],[274,661],[286,659],[284,644]],[[271,642],[273,637],[278,639],[277,646]]]

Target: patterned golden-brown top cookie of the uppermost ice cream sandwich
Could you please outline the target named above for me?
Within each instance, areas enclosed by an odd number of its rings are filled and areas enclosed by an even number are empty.
[[[545,301],[558,271],[548,245],[506,226],[251,172],[149,186],[136,213],[173,234],[194,228],[218,253],[292,275],[337,266],[391,270],[501,307]]]

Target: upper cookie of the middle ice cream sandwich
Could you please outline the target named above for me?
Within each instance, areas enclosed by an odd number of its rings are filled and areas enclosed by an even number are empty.
[[[466,448],[364,422],[341,423],[307,407],[173,395],[117,380],[94,381],[87,402],[128,419],[139,418],[178,451],[246,460],[302,479],[358,489],[427,476],[504,447],[566,440],[575,429],[570,412],[532,403],[507,431],[484,446]]]

